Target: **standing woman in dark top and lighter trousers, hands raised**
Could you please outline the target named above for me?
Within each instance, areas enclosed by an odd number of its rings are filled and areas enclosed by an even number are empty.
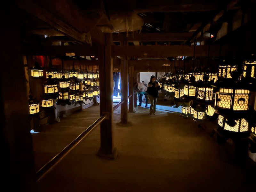
[[[158,90],[160,90],[158,82],[156,82],[156,77],[151,76],[148,82],[148,97],[150,100],[149,116],[156,114],[156,100],[158,98]]]

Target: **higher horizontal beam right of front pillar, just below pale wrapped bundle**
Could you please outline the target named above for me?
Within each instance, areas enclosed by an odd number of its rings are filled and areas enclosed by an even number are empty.
[[[126,34],[113,34],[113,41],[186,41],[193,33],[134,33],[126,37]]]

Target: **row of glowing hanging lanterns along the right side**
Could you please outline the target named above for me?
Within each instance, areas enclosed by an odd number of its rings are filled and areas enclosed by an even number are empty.
[[[212,118],[218,121],[217,131],[227,137],[246,137],[251,132],[256,141],[256,107],[250,103],[250,90],[255,83],[256,61],[246,60],[239,73],[238,65],[225,64],[219,66],[219,72],[194,72],[182,76],[180,80],[175,75],[165,74],[162,86],[165,92],[174,94],[174,102],[181,105],[183,116],[192,117],[196,121]],[[169,78],[166,78],[169,76]],[[192,77],[192,80],[191,80]],[[219,80],[218,80],[219,79]],[[173,86],[174,85],[174,86]],[[173,91],[173,87],[174,91]],[[191,105],[192,104],[192,105]],[[256,106],[256,105],[255,105]],[[255,113],[252,113],[255,112]]]

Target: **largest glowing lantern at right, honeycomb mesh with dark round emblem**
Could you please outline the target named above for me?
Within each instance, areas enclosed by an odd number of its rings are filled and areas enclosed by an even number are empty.
[[[249,90],[220,88],[216,93],[215,106],[234,111],[249,109]]]

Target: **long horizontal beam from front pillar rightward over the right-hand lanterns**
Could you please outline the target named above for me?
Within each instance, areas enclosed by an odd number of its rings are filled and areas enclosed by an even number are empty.
[[[233,46],[233,49],[236,47]],[[208,56],[207,45],[196,46],[195,57]],[[226,56],[229,51],[229,46],[221,47],[221,55]],[[235,55],[231,54],[232,56]],[[115,56],[130,56],[139,58],[167,58],[175,56],[193,57],[194,47],[188,45],[154,45],[154,46],[112,46],[112,58]],[[220,46],[212,45],[210,57],[220,56]]]

